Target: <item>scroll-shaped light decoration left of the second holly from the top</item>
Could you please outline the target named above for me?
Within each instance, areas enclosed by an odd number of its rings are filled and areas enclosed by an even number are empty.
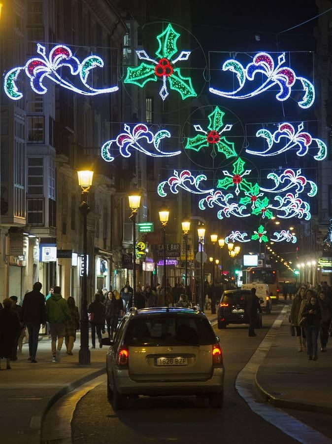
[[[171,157],[181,153],[181,151],[165,152],[159,149],[161,140],[165,137],[170,137],[170,133],[166,130],[160,130],[157,131],[156,134],[153,134],[144,123],[138,123],[133,127],[133,130],[125,123],[124,130],[125,132],[119,134],[116,139],[105,142],[101,147],[101,157],[106,162],[112,162],[114,160],[114,157],[111,155],[111,149],[114,143],[119,148],[120,154],[124,157],[131,156],[129,148],[136,149],[151,157]],[[153,145],[155,151],[143,148],[141,143],[139,143],[142,139],[149,145]]]

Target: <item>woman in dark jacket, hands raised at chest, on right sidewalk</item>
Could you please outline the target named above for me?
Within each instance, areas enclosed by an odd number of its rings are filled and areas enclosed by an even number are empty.
[[[322,319],[321,308],[317,296],[313,294],[310,296],[310,299],[306,302],[301,311],[301,316],[305,318],[304,331],[309,361],[317,361],[318,332]]]

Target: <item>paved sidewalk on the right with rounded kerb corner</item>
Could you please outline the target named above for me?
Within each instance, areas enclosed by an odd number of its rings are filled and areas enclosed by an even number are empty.
[[[318,361],[308,361],[306,350],[297,351],[287,314],[256,374],[257,387],[275,407],[332,414],[332,337],[327,350],[320,351],[318,339]]]

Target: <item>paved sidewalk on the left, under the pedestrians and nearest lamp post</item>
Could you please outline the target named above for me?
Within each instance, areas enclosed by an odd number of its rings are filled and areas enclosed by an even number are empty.
[[[98,341],[97,341],[98,344]],[[108,347],[91,350],[91,365],[78,365],[80,335],[77,334],[73,356],[66,354],[52,363],[51,340],[43,337],[38,343],[37,364],[28,359],[28,344],[11,363],[12,370],[0,370],[0,443],[39,444],[41,423],[47,410],[61,397],[79,385],[102,374]]]

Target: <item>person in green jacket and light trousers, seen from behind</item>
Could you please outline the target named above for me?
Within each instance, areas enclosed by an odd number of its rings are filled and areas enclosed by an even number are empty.
[[[52,339],[52,362],[60,362],[60,352],[65,335],[65,322],[70,319],[67,301],[61,296],[61,288],[56,286],[54,287],[53,294],[46,301],[46,320],[50,323]]]

